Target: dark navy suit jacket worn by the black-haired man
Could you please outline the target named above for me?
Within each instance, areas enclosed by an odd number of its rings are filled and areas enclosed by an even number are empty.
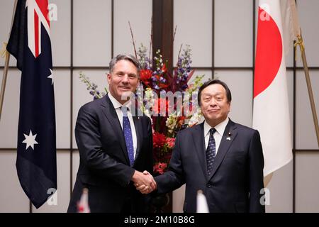
[[[207,174],[203,123],[179,131],[169,171],[155,178],[157,192],[167,193],[186,183],[185,212],[196,212],[196,193],[203,191],[210,212],[264,212],[264,157],[258,131],[229,121],[213,172]]]

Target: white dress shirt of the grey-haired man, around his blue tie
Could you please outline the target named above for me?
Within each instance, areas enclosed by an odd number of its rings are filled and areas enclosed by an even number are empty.
[[[110,92],[108,92],[108,97],[110,98],[111,103],[113,104],[114,108],[116,109],[116,114],[118,115],[118,121],[120,121],[120,123],[121,123],[122,131],[123,131],[123,112],[121,110],[121,107],[125,106],[128,108],[128,120],[130,121],[130,129],[132,131],[133,150],[134,150],[134,158],[135,158],[136,150],[138,149],[138,138],[136,136],[133,116],[132,116],[132,113],[130,112],[130,101],[128,101],[122,105],[112,96],[112,94]]]

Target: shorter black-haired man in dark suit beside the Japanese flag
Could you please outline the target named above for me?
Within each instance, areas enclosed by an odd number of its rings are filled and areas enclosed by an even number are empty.
[[[230,102],[227,84],[218,79],[203,84],[198,104],[205,121],[177,133],[169,171],[155,177],[158,193],[186,184],[185,212],[196,212],[198,190],[210,212],[264,212],[259,133],[230,121]]]

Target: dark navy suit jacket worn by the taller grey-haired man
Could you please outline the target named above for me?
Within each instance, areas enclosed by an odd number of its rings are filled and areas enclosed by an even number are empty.
[[[126,199],[133,211],[148,211],[150,196],[135,189],[130,179],[135,170],[152,173],[152,126],[147,116],[133,116],[138,147],[130,167],[125,138],[116,110],[108,96],[79,109],[75,138],[80,162],[68,212],[77,211],[82,189],[89,189],[91,212],[120,212]]]

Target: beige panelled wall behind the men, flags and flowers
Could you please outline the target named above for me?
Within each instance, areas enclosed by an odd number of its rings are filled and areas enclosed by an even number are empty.
[[[100,89],[107,86],[105,73],[111,60],[111,0],[92,1],[73,1],[73,25],[70,14],[71,1],[50,1],[57,5],[57,21],[51,22],[51,37],[53,65],[58,67],[54,70],[59,149],[57,151],[58,204],[57,206],[45,204],[38,210],[33,207],[33,212],[65,212],[67,209],[70,188],[74,184],[79,165],[77,145],[71,132],[74,130],[79,107],[91,101],[86,87],[79,80],[79,71],[89,76]],[[254,1],[215,0],[214,2],[213,15],[211,0],[174,1],[174,26],[177,26],[174,60],[177,59],[181,43],[191,45],[192,66],[205,67],[196,70],[196,74],[206,74],[205,79],[214,76],[227,82],[233,92],[230,118],[238,123],[252,126]],[[310,74],[319,113],[319,15],[316,13],[319,1],[302,0],[297,1],[297,4],[308,65],[312,67]],[[12,0],[1,0],[1,43],[8,40],[12,10]],[[132,25],[136,45],[143,43],[149,46],[151,16],[151,0],[114,1],[114,55],[120,52],[133,52],[128,21]],[[73,40],[71,28],[73,28]],[[13,57],[10,65],[16,65]],[[300,57],[297,65],[301,66]],[[0,58],[0,79],[2,79],[3,66],[4,59]],[[287,67],[291,66],[293,66],[292,53],[287,57]],[[214,70],[210,67],[214,67]],[[267,206],[267,211],[292,212],[293,186],[295,186],[296,211],[318,212],[319,199],[315,192],[318,192],[319,180],[313,176],[319,172],[319,148],[315,140],[303,71],[297,71],[294,81],[293,70],[289,69],[288,84],[291,128],[293,128],[293,116],[296,116],[296,133],[291,135],[297,149],[295,177],[293,179],[293,162],[274,173],[268,186],[270,205]],[[4,112],[0,121],[0,212],[29,212],[29,201],[18,183],[15,167],[19,87],[20,72],[11,68],[4,99]],[[294,95],[296,99],[293,99]],[[296,105],[296,109],[293,109],[293,104]],[[71,154],[73,149],[75,150]],[[183,200],[184,189],[181,188],[174,192],[174,212],[181,211]]]

